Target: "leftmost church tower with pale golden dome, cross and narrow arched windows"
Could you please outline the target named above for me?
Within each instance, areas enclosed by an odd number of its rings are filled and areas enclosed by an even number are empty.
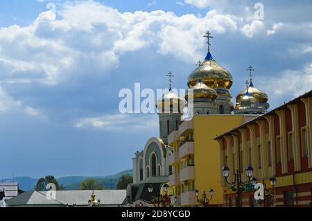
[[[159,137],[164,144],[168,143],[168,135],[177,130],[185,107],[185,100],[177,96],[171,88],[173,73],[169,72],[167,76],[169,78],[169,91],[157,100],[156,104],[159,116]]]

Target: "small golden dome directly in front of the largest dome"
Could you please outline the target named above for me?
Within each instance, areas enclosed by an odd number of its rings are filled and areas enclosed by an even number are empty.
[[[197,84],[192,87],[193,100],[216,100],[217,94],[214,89],[205,85],[202,80],[198,80]],[[189,100],[188,93],[185,95],[185,100]]]

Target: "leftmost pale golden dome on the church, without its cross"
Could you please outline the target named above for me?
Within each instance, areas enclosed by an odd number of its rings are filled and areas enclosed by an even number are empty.
[[[159,112],[166,112],[166,109],[170,108],[170,112],[180,113],[185,107],[185,100],[170,89],[167,94],[157,100],[156,107]]]

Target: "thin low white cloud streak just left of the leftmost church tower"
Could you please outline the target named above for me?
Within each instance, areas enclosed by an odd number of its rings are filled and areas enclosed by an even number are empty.
[[[83,118],[74,127],[94,127],[110,132],[138,132],[157,127],[157,115],[104,114],[94,118]]]

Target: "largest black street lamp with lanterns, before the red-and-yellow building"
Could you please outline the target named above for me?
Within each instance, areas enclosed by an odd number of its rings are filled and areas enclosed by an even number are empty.
[[[239,205],[238,205],[239,207],[241,207],[241,186],[250,184],[253,171],[254,171],[254,168],[252,168],[252,166],[250,166],[250,165],[245,169],[246,175],[248,177],[247,183],[242,181],[241,173],[239,173],[239,170],[236,170],[236,173],[234,173],[234,182],[229,182],[227,180],[227,178],[229,177],[229,168],[227,166],[223,166],[223,168],[222,168],[222,174],[223,174],[223,177],[225,177],[225,182],[227,182],[227,184],[229,184],[229,185],[236,185],[235,189],[236,189],[237,197],[239,199]]]

